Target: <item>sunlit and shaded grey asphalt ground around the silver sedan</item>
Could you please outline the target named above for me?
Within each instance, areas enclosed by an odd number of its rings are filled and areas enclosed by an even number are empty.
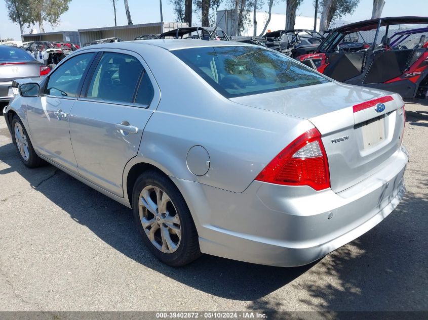
[[[428,106],[406,105],[398,208],[310,265],[205,255],[171,268],[131,210],[55,167],[27,169],[0,117],[0,310],[428,310]]]

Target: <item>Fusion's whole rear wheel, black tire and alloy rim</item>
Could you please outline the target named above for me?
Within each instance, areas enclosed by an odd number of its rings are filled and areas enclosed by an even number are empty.
[[[198,233],[177,187],[165,174],[146,171],[133,189],[134,222],[151,253],[171,266],[200,255]]]

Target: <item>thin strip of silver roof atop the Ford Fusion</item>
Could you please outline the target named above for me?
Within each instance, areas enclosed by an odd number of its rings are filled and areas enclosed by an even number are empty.
[[[97,44],[92,47],[85,47],[85,49],[90,48],[116,48],[116,49],[135,49],[138,50],[140,45],[154,45],[156,47],[163,48],[168,51],[187,49],[187,48],[199,48],[199,47],[226,47],[226,46],[251,46],[249,43],[234,42],[234,41],[220,41],[220,40],[199,40],[199,39],[153,39],[153,40],[134,40],[134,41],[123,41],[123,42],[112,42],[112,43],[103,43]],[[254,47],[259,47],[255,46]]]

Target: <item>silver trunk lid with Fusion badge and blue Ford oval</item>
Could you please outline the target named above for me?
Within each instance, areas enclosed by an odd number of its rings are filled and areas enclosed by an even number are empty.
[[[404,103],[381,90],[331,82],[231,100],[312,122],[322,134],[336,193],[378,171],[401,145]]]

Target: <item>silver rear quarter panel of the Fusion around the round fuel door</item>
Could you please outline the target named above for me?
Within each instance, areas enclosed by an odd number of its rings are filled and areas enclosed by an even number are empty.
[[[141,55],[159,84],[161,102],[144,129],[138,158],[170,176],[243,192],[282,149],[314,127],[304,119],[229,101],[164,49]],[[192,174],[186,164],[196,145],[210,157],[203,176]]]

